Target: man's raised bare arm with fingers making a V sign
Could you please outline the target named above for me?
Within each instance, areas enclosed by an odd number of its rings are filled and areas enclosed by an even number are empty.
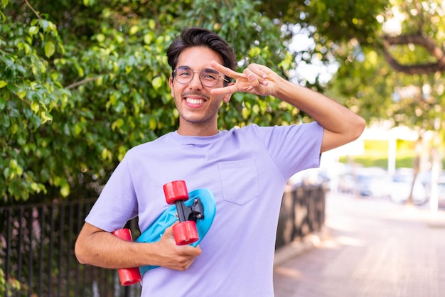
[[[236,80],[235,84],[211,90],[213,94],[250,92],[261,96],[272,95],[309,114],[324,128],[321,153],[357,139],[365,129],[365,120],[343,105],[318,92],[284,80],[264,65],[251,64],[243,73],[215,62],[212,62],[212,66]]]

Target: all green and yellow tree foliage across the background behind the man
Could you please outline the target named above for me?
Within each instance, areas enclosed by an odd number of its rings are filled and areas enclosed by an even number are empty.
[[[335,60],[329,85],[299,83],[327,87],[370,122],[444,126],[439,0],[2,0],[0,18],[4,202],[96,195],[129,148],[176,129],[165,52],[184,26],[226,38],[240,69],[263,63],[291,77],[296,64]],[[313,46],[287,50],[296,33]],[[305,114],[235,94],[218,125],[294,121]]]

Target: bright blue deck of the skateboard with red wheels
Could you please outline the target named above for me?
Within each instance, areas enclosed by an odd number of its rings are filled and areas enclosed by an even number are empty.
[[[216,202],[213,193],[205,188],[199,188],[192,190],[188,193],[188,200],[184,201],[187,207],[192,207],[195,203],[195,199],[199,199],[203,207],[203,218],[198,218],[196,220],[196,229],[198,230],[199,239],[193,242],[193,247],[196,247],[201,240],[205,237],[210,226],[215,219],[216,214]],[[166,210],[164,210],[161,215],[148,227],[142,234],[136,239],[136,242],[158,242],[161,239],[165,229],[173,225],[173,223],[178,221],[176,216],[176,205],[171,205]],[[155,269],[159,266],[141,266],[139,271],[144,274],[150,269]]]

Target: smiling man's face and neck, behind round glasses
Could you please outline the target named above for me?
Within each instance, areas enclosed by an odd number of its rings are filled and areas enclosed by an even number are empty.
[[[199,131],[203,131],[203,129],[217,127],[216,121],[220,104],[227,96],[228,100],[230,95],[210,95],[211,89],[223,87],[224,80],[221,77],[214,87],[205,87],[200,82],[199,75],[202,70],[214,70],[210,66],[212,60],[220,64],[223,63],[223,59],[218,53],[205,47],[187,48],[178,57],[176,69],[186,67],[196,71],[191,82],[186,84],[181,84],[170,77],[171,95],[175,99],[179,112],[179,130],[187,129],[190,132],[193,129],[199,129]],[[223,76],[222,73],[220,75]]]

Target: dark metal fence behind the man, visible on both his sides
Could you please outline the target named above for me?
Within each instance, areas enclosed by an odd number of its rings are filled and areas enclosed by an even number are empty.
[[[324,190],[285,193],[277,247],[318,231],[324,222]],[[0,207],[0,296],[130,297],[140,286],[121,286],[116,269],[82,265],[74,243],[92,200]],[[139,236],[137,221],[127,224]]]

